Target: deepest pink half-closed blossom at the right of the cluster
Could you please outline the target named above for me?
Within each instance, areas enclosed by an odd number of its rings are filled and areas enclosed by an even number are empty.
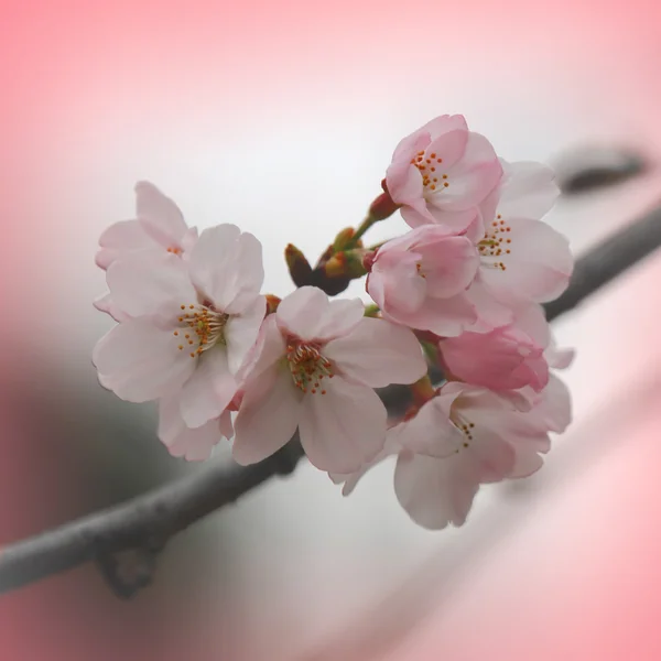
[[[517,311],[511,324],[442,339],[438,350],[445,370],[462,381],[491,390],[529,386],[540,392],[549,382],[548,344],[544,312],[530,304]]]

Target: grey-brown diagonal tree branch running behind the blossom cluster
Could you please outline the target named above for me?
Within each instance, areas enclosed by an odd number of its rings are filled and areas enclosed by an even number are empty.
[[[581,257],[566,292],[545,305],[548,319],[575,308],[659,246],[661,207]],[[408,393],[407,388],[391,387],[382,389],[380,395],[392,409]],[[171,537],[235,502],[271,477],[292,473],[302,456],[301,445],[293,438],[273,456],[253,466],[227,463],[205,467],[116,507],[7,545],[0,550],[0,593],[96,561],[115,592],[131,596],[149,583],[155,555]],[[121,577],[118,560],[131,552],[132,581]]]

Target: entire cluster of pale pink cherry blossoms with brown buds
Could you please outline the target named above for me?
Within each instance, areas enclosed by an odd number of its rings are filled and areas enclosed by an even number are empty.
[[[566,367],[541,303],[567,286],[573,259],[542,220],[557,197],[539,163],[507,163],[460,116],[404,138],[383,194],[343,230],[313,270],[292,246],[299,285],[262,293],[262,247],[231,224],[199,232],[152,184],[136,218],[100,237],[115,325],[97,344],[100,383],[131,402],[158,401],[159,437],[205,459],[224,438],[252,464],[299,432],[310,462],[349,494],[397,457],[394,490],[426,528],[460,525],[480,485],[538,470],[550,433],[571,421]],[[366,247],[399,210],[400,237]],[[330,299],[367,274],[372,303]],[[440,383],[427,371],[440,368]],[[409,386],[404,415],[375,391]]]

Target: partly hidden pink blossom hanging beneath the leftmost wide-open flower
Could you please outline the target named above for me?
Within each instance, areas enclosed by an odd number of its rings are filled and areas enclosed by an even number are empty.
[[[212,456],[214,447],[231,438],[234,427],[228,409],[202,426],[191,429],[182,416],[178,398],[166,397],[159,401],[159,438],[175,457],[188,462],[203,462]]]

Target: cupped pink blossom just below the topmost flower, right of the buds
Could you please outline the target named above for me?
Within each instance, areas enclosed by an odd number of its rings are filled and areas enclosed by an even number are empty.
[[[467,237],[424,225],[377,250],[367,291],[384,318],[454,336],[477,322],[466,289],[478,266],[477,250]]]

